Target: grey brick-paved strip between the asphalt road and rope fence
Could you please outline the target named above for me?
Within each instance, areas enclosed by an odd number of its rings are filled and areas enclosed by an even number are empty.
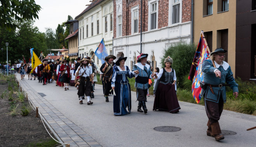
[[[31,99],[33,106],[39,107],[38,109],[43,116],[43,120],[47,121],[48,125],[50,125],[48,127],[52,128],[52,133],[54,133],[59,142],[68,143],[71,147],[101,147],[101,145],[92,137],[86,134],[80,127],[75,125],[52,106],[52,104],[38,94],[26,80],[21,80],[18,75],[16,77],[22,89],[28,93],[28,97]],[[38,80],[32,81],[38,82]],[[42,83],[38,83],[38,85],[42,85]]]

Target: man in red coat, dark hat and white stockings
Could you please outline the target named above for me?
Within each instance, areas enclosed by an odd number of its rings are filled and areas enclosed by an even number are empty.
[[[62,61],[62,65],[60,71],[62,72],[61,82],[64,83],[64,91],[69,90],[69,80],[70,80],[70,65],[68,64],[67,60],[64,59]]]

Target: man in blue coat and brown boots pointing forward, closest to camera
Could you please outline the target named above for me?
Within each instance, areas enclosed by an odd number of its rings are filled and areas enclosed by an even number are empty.
[[[217,141],[224,139],[218,121],[223,110],[223,103],[226,102],[225,86],[231,87],[235,98],[238,96],[238,84],[235,82],[231,67],[224,61],[226,52],[222,48],[217,48],[210,54],[210,59],[202,63],[205,86],[202,86],[201,95],[204,96],[206,115],[209,119],[206,134]]]

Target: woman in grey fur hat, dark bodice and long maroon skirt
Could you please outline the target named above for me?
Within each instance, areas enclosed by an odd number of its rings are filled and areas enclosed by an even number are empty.
[[[168,111],[170,113],[178,113],[180,105],[176,95],[176,73],[171,65],[173,59],[168,56],[164,60],[165,67],[162,68],[158,75],[157,80],[159,84],[156,90],[156,97],[154,101],[153,110]]]

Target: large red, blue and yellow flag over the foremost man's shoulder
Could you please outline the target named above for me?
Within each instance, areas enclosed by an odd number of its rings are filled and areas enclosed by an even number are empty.
[[[193,82],[192,94],[197,104],[201,100],[200,93],[202,91],[202,88],[200,87],[200,81],[203,81],[202,63],[204,62],[204,60],[208,59],[209,53],[209,47],[206,39],[204,38],[204,32],[202,31],[189,72],[189,80]]]

